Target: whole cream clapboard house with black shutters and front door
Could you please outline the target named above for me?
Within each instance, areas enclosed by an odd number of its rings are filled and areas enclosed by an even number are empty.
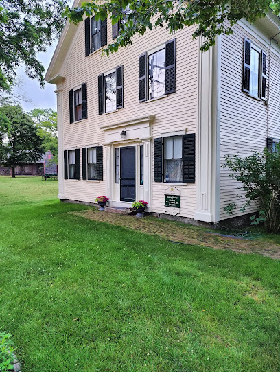
[[[149,212],[193,223],[242,216],[224,211],[241,201],[220,165],[280,139],[280,19],[268,12],[233,28],[202,53],[194,27],[159,27],[107,58],[118,25],[67,22],[45,76],[56,84],[58,198],[145,200]]]

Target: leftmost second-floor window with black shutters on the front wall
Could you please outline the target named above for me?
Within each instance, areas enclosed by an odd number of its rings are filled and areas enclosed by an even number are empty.
[[[70,123],[80,121],[87,117],[86,84],[82,84],[69,91],[69,118]]]

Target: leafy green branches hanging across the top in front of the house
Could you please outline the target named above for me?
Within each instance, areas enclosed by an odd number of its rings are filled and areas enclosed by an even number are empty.
[[[279,14],[280,0],[272,3],[270,0],[108,0],[84,2],[73,9],[67,6],[65,16],[73,23],[82,21],[84,14],[95,14],[96,19],[102,20],[110,16],[113,24],[122,20],[119,37],[104,49],[107,55],[119,47],[127,47],[131,44],[132,36],[137,33],[143,35],[153,27],[167,27],[171,33],[190,25],[197,26],[194,37],[205,38],[201,47],[205,51],[215,44],[217,35],[232,34],[232,26],[238,20],[245,18],[253,22],[264,16],[270,5]],[[124,14],[127,6],[131,12]],[[156,21],[153,24],[154,16]]]

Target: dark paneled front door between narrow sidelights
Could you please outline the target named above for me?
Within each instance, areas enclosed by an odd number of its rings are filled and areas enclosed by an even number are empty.
[[[135,201],[135,146],[121,150],[121,201]]]

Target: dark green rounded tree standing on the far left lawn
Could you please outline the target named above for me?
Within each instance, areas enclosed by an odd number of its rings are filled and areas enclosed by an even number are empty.
[[[15,167],[34,163],[44,153],[42,139],[32,119],[21,106],[4,105],[0,108],[0,164],[10,167],[15,177]]]

